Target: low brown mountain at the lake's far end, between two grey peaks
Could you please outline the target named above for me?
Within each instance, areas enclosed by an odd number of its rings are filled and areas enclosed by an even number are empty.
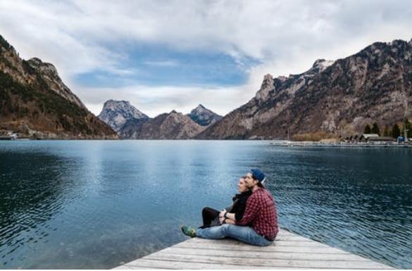
[[[201,127],[187,115],[172,111],[156,118],[127,120],[120,136],[127,139],[191,139]]]

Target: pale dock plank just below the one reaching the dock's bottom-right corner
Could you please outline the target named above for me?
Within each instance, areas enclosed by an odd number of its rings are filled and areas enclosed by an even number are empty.
[[[151,267],[156,269],[250,269],[248,265],[228,265],[216,263],[194,263],[184,260],[146,260],[144,258],[127,263],[129,266]],[[308,268],[290,268],[290,267],[268,267],[256,266],[254,269],[308,269]]]

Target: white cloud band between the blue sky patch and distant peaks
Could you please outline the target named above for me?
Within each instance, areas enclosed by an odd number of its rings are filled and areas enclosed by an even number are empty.
[[[212,111],[225,115],[227,108],[237,108],[239,104],[251,99],[248,87],[154,87],[130,85],[125,87],[87,88],[76,87],[78,94],[90,111],[98,115],[103,103],[112,97],[116,100],[130,101],[139,111],[150,117],[173,109],[189,113],[203,104]],[[99,95],[95,95],[99,93]],[[183,98],[183,99],[182,99]]]

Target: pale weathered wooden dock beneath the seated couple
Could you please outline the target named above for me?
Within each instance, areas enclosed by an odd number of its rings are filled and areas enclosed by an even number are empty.
[[[280,229],[270,246],[192,238],[114,269],[393,269]]]

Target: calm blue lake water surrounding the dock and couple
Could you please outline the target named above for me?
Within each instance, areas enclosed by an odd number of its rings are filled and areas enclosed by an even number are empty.
[[[0,269],[111,268],[187,239],[250,168],[282,227],[412,268],[412,149],[0,141]]]

